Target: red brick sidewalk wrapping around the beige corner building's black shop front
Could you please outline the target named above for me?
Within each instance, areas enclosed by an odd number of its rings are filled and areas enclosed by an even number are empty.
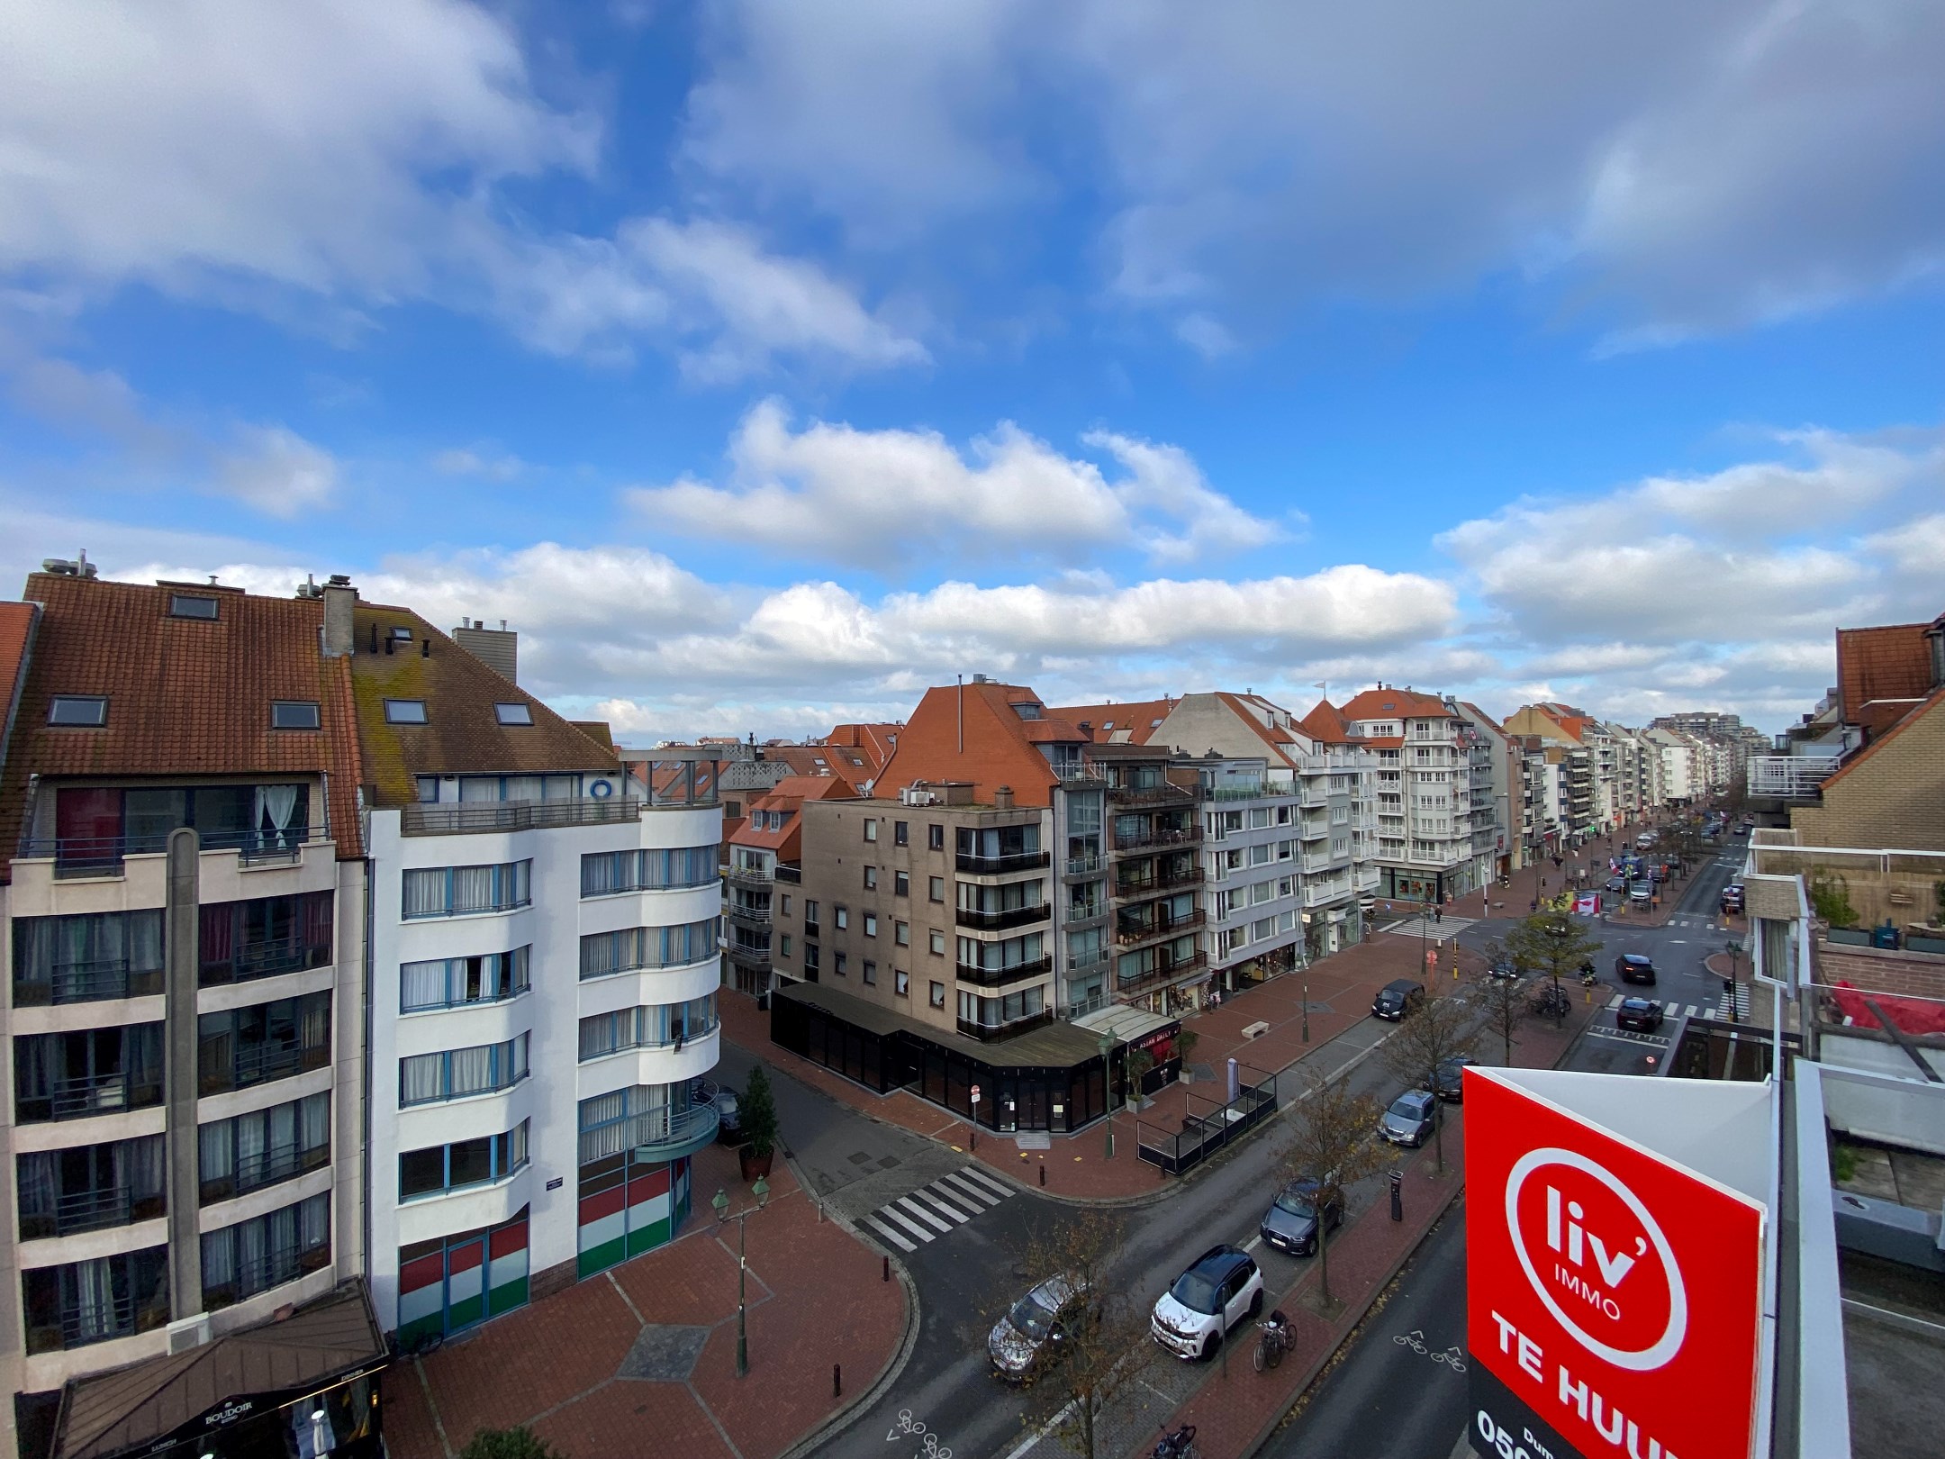
[[[1445,959],[1453,955],[1467,975],[1482,967],[1476,953],[1447,942],[1441,949],[1441,977],[1451,975],[1451,961]],[[716,1002],[722,1012],[724,1037],[729,1043],[871,1119],[939,1140],[953,1150],[971,1152],[982,1165],[1023,1185],[1035,1189],[1044,1185],[1052,1196],[1114,1200],[1155,1194],[1165,1189],[1169,1179],[1155,1165],[1146,1165],[1138,1157],[1136,1122],[1173,1132],[1181,1128],[1190,1107],[1208,1111],[1212,1103],[1221,1103],[1223,1068],[1231,1056],[1249,1070],[1280,1074],[1367,1017],[1371,996],[1393,979],[1416,977],[1422,965],[1420,957],[1418,938],[1375,934],[1356,947],[1311,963],[1307,984],[1305,975],[1284,973],[1268,982],[1229,994],[1221,1008],[1185,1017],[1183,1027],[1196,1031],[1196,1047],[1188,1062],[1190,1066],[1208,1066],[1216,1072],[1216,1080],[1171,1084],[1159,1089],[1138,1115],[1116,1113],[1111,1121],[1114,1126],[1113,1159],[1105,1156],[1105,1124],[1093,1124],[1079,1134],[1050,1136],[1050,1148],[1035,1152],[1019,1150],[1011,1136],[980,1130],[978,1148],[972,1150],[972,1126],[951,1111],[904,1089],[889,1095],[871,1093],[864,1085],[770,1043],[770,1015],[759,1012],[757,1000],[747,994],[724,988]],[[1303,1041],[1305,986],[1311,1004],[1309,1043]],[[1270,1031],[1258,1039],[1245,1039],[1243,1029],[1255,1023],[1268,1023]],[[788,1140],[790,1132],[784,1134]],[[1044,1183],[1041,1171],[1046,1175]]]

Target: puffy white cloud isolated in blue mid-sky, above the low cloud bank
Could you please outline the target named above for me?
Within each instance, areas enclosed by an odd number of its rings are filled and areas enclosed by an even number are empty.
[[[1124,475],[1103,477],[1011,422],[959,451],[937,432],[792,430],[776,401],[729,442],[725,484],[628,492],[661,529],[897,574],[914,554],[1076,558],[1140,547],[1159,560],[1262,547],[1282,535],[1208,486],[1173,445],[1095,432]]]

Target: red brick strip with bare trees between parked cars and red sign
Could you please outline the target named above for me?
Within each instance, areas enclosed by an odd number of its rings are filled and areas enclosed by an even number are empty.
[[[1525,1023],[1513,1039],[1513,1062],[1521,1068],[1558,1064],[1579,1037],[1589,1014],[1585,1008],[1575,1010],[1560,1029],[1537,1019]],[[1251,1362],[1255,1329],[1239,1329],[1231,1338],[1227,1375],[1214,1366],[1200,1391],[1169,1418],[1171,1432],[1183,1424],[1196,1426],[1202,1459],[1247,1459],[1262,1445],[1426,1231],[1463,1196],[1465,1105],[1449,1105],[1447,1121],[1445,1173],[1432,1173],[1430,1144],[1404,1165],[1404,1220],[1393,1222],[1391,1202],[1381,1198],[1330,1243],[1330,1296],[1342,1303],[1336,1315],[1325,1321],[1303,1301],[1319,1280],[1317,1263],[1307,1263],[1293,1286],[1264,1299],[1264,1309],[1280,1307],[1297,1333],[1297,1346],[1286,1354],[1282,1368],[1255,1371]],[[1146,1459],[1151,1449],[1153,1436],[1148,1436],[1130,1451],[1130,1459]]]

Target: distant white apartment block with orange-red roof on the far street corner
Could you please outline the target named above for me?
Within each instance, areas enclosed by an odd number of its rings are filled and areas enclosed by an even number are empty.
[[[1451,700],[1397,685],[1334,714],[1375,757],[1377,895],[1443,903],[1494,873],[1492,751]]]

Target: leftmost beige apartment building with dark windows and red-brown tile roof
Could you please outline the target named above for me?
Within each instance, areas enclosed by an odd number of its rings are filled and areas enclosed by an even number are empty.
[[[49,568],[0,615],[8,1438],[146,1451],[158,1414],[206,1406],[171,1354],[296,1309],[282,1371],[371,1453],[368,846],[335,605]]]

